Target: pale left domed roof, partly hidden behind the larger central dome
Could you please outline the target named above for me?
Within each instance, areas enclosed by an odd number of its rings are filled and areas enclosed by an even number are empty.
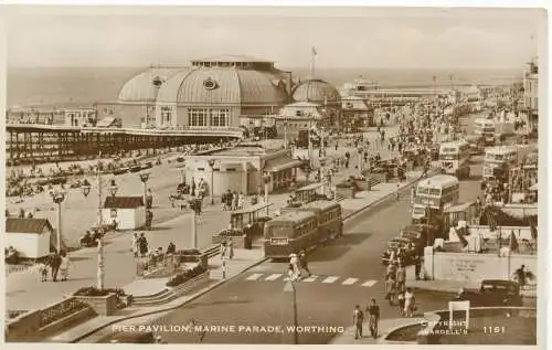
[[[118,99],[120,102],[153,102],[164,82],[181,70],[150,67],[125,83]]]

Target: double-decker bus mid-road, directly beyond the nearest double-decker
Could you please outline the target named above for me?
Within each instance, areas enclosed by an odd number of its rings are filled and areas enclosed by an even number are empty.
[[[469,178],[470,146],[466,141],[440,144],[439,161],[443,173],[454,174],[458,179]]]

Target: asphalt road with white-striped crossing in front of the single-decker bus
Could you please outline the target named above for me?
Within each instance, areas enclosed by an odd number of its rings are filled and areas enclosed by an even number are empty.
[[[480,165],[473,165],[474,177],[460,181],[460,201],[478,195]],[[298,325],[348,327],[355,304],[371,298],[381,305],[382,318],[399,317],[384,304],[381,254],[389,238],[410,222],[408,195],[364,212],[346,223],[344,236],[309,256],[316,282],[297,283]],[[187,325],[192,319],[203,326],[293,325],[293,293],[284,291],[286,263],[265,262],[203,295],[182,308],[166,314],[153,326]],[[364,286],[363,286],[364,285]],[[443,308],[450,295],[415,291],[421,314]],[[261,331],[209,331],[204,343],[293,343],[293,333]],[[160,332],[169,343],[199,342],[197,332]],[[328,343],[335,332],[301,332],[299,343]]]

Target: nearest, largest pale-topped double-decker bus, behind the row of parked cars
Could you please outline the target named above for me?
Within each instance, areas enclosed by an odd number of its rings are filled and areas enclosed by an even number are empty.
[[[443,211],[458,204],[460,185],[457,178],[438,174],[418,182],[412,205],[413,223],[427,220],[428,215],[443,216]]]

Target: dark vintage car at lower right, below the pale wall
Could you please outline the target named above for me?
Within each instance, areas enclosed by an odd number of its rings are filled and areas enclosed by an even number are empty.
[[[454,300],[469,300],[471,307],[522,305],[520,285],[507,279],[485,279],[479,289],[463,289]]]

